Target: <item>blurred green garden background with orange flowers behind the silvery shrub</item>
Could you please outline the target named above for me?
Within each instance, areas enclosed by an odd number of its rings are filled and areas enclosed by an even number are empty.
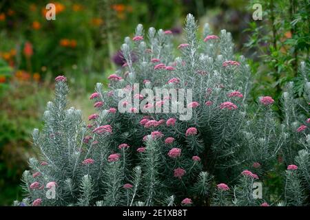
[[[45,18],[48,3],[56,5],[55,21]],[[252,18],[254,3],[262,5],[261,21]],[[289,80],[301,96],[298,63],[309,62],[309,8],[308,0],[1,0],[0,206],[21,198],[21,174],[36,154],[31,133],[42,126],[55,76],[68,76],[70,106],[86,118],[95,83],[106,86],[106,76],[122,67],[119,48],[138,23],[171,30],[177,45],[192,13],[201,29],[208,22],[216,34],[231,32],[251,65],[253,99],[279,99]]]

